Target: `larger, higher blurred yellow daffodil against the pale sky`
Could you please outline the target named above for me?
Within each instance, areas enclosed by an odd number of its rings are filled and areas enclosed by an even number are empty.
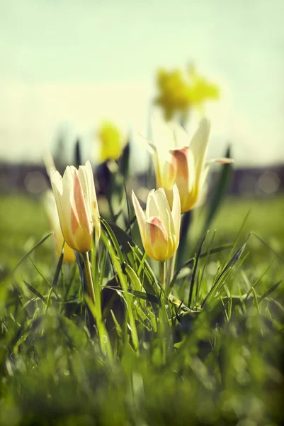
[[[220,97],[217,84],[208,82],[193,66],[187,70],[158,70],[157,86],[159,93],[156,103],[164,110],[168,120],[176,113],[185,117],[193,107],[202,111],[205,101]]]

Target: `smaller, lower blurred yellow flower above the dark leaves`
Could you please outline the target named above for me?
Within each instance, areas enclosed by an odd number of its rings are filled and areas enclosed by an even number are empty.
[[[106,160],[118,160],[126,143],[118,127],[110,121],[105,121],[98,129],[97,136],[101,144],[100,161],[103,163]]]

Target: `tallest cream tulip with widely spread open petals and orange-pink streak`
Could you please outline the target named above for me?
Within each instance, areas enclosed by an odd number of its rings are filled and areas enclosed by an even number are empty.
[[[210,121],[202,119],[192,140],[182,126],[162,119],[152,120],[153,143],[148,143],[156,172],[157,187],[164,188],[169,204],[173,187],[178,187],[181,213],[201,204],[205,198],[210,163],[232,163],[229,158],[206,161]]]

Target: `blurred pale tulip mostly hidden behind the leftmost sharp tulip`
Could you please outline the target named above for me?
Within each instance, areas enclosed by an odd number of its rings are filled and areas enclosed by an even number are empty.
[[[43,203],[45,206],[45,212],[50,221],[51,229],[55,236],[56,253],[57,253],[57,256],[59,257],[62,252],[64,238],[60,228],[55,196],[53,195],[52,190],[47,190],[45,192],[45,198],[43,200]],[[76,257],[75,257],[74,250],[71,249],[71,247],[69,247],[67,243],[65,243],[64,249],[63,249],[63,261],[67,263],[73,263],[75,260],[76,260]]]

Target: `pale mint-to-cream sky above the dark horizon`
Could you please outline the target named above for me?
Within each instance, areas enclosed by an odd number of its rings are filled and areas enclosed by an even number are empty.
[[[102,119],[146,136],[157,68],[194,62],[222,92],[209,155],[230,141],[237,166],[284,162],[283,16],[281,0],[0,0],[0,160],[40,160],[59,131],[93,155]]]

